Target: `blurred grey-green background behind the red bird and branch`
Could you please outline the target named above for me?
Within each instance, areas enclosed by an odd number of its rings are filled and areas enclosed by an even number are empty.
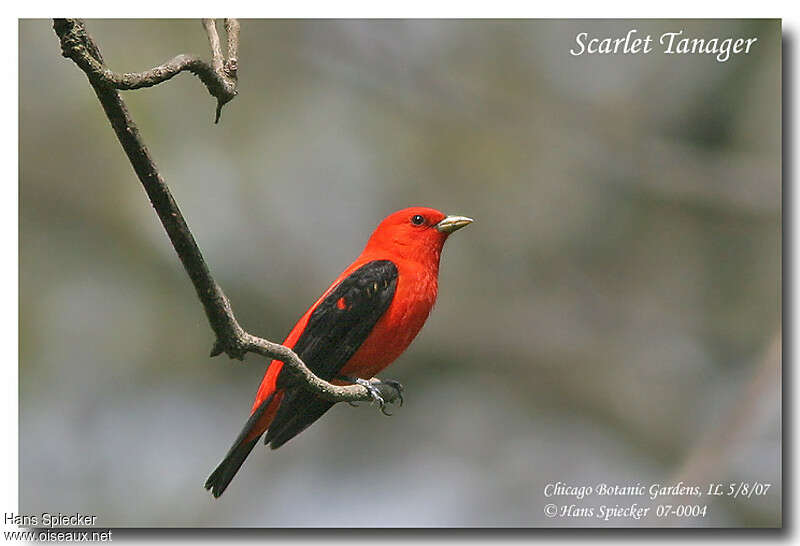
[[[203,482],[263,359],[213,336],[84,74],[20,36],[20,511],[103,526],[594,525],[546,484],[772,483],[781,522],[778,21],[242,21],[240,95],[123,96],[241,324],[279,341],[388,213],[476,218],[384,376]],[[199,21],[88,21],[109,67],[209,57]],[[222,25],[220,24],[220,32]],[[575,34],[757,36],[749,55],[572,57]],[[224,38],[223,38],[224,40]],[[633,499],[655,506],[644,499]],[[630,504],[630,498],[579,505]]]

